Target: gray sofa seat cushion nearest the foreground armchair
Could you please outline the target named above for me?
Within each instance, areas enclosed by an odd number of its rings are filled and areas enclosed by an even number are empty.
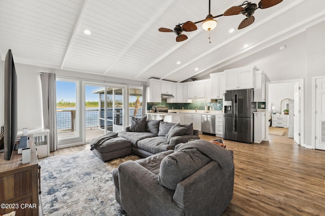
[[[169,145],[165,137],[152,137],[140,140],[138,142],[138,148],[151,154],[157,154],[159,152],[174,150],[175,146]]]

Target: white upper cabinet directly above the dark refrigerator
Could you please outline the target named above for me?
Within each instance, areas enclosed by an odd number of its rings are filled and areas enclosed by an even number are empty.
[[[225,70],[225,90],[254,89],[255,66]]]

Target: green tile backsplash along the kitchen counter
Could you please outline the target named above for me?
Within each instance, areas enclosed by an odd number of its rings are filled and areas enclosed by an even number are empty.
[[[161,99],[161,103],[148,103],[147,110],[150,110],[152,106],[168,106],[168,109],[198,109],[204,110],[205,106],[210,106],[213,110],[222,110],[222,99],[216,100],[215,103],[205,102],[201,100],[192,101],[192,103],[167,103],[167,99]]]

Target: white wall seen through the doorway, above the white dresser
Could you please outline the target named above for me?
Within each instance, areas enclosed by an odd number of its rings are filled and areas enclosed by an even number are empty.
[[[269,103],[276,106],[276,112],[282,113],[284,108],[281,101],[285,98],[294,100],[294,85],[296,82],[270,83],[269,84]],[[273,111],[273,110],[272,110]]]

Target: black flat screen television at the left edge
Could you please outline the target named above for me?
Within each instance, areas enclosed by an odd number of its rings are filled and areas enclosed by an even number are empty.
[[[4,77],[4,158],[10,160],[17,137],[17,74],[11,50],[6,55]]]

